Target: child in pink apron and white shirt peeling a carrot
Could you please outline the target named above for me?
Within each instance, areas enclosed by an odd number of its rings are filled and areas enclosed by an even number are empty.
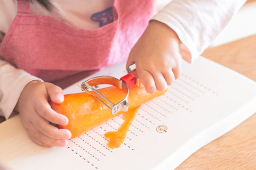
[[[210,45],[244,1],[0,0],[0,114],[20,113],[38,145],[66,146],[71,134],[49,100],[110,64],[135,63],[149,93],[164,90]],[[154,15],[155,14],[155,15]]]

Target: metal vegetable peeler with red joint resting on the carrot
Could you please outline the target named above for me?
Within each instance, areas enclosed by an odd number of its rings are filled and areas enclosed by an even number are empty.
[[[119,111],[126,112],[128,111],[128,107],[129,107],[128,105],[129,89],[132,88],[133,86],[141,86],[141,83],[137,76],[135,63],[131,64],[128,67],[127,72],[128,74],[124,75],[120,79],[116,79],[114,77],[107,76],[107,75],[94,77],[82,82],[81,87],[84,90],[86,90],[88,94],[94,96],[102,104],[106,105],[111,110],[111,114],[114,115]],[[105,96],[100,94],[99,91],[93,88],[93,86],[97,86],[100,84],[110,84],[112,86],[115,86],[119,89],[122,89],[126,95],[121,101],[119,101],[119,103],[113,104]]]

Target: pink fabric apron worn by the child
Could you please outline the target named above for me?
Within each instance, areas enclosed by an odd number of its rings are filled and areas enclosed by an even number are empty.
[[[30,13],[29,0],[17,0],[18,13],[6,32],[0,55],[13,66],[65,88],[127,59],[154,14],[154,0],[115,0],[114,21],[84,30]]]

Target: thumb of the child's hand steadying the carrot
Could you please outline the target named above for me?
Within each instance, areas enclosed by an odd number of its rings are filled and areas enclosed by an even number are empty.
[[[53,103],[60,104],[64,101],[63,90],[52,83],[45,83],[48,95]]]

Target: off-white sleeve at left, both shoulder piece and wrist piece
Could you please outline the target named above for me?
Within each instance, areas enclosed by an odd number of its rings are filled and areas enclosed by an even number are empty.
[[[0,47],[17,13],[16,1],[0,0]],[[0,115],[9,118],[27,83],[38,79],[4,61],[0,56]],[[42,80],[41,80],[42,81]]]

